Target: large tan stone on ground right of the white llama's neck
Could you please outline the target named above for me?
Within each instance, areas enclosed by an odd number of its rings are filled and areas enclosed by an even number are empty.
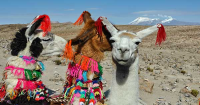
[[[148,92],[148,93],[152,93],[153,91],[153,86],[154,86],[154,83],[149,81],[149,80],[145,80],[145,79],[140,79],[139,80],[139,85],[140,85],[140,89],[145,91],[145,92]]]

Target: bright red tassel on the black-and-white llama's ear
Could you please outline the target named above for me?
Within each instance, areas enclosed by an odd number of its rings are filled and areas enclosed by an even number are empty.
[[[43,30],[43,36],[45,36],[48,32],[51,31],[51,20],[49,18],[48,15],[44,14],[44,15],[40,15],[38,18],[36,18],[32,24],[34,22],[36,22],[37,20],[42,19],[41,25],[40,25],[40,29]]]

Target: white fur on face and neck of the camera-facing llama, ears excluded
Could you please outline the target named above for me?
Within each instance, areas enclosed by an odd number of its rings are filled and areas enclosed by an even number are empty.
[[[115,63],[113,67],[113,77],[111,91],[109,95],[110,105],[137,105],[139,98],[138,88],[138,45],[140,38],[134,39],[123,36],[126,31],[121,31],[111,37],[112,57]]]

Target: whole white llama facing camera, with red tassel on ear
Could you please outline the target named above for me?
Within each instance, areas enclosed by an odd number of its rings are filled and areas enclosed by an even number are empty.
[[[138,45],[142,38],[159,28],[156,44],[165,40],[166,34],[162,24],[152,26],[137,33],[117,30],[105,17],[102,23],[112,37],[112,59],[114,62],[113,78],[110,90],[110,105],[138,105]]]

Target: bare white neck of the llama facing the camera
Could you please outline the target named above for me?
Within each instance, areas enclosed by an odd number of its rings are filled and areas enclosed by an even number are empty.
[[[138,62],[139,56],[130,66],[115,64],[109,95],[110,105],[137,105]]]

